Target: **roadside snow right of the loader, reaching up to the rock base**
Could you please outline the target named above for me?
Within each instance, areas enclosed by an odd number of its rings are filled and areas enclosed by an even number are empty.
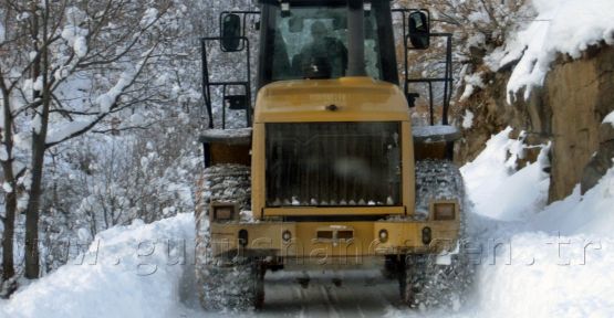
[[[576,189],[540,209],[535,202],[545,202],[547,179],[539,163],[506,170],[504,153],[513,144],[508,134],[493,136],[462,168],[476,212],[486,216],[471,218],[486,253],[471,305],[454,316],[612,317],[614,169],[585,195]],[[506,221],[510,215],[516,222]]]

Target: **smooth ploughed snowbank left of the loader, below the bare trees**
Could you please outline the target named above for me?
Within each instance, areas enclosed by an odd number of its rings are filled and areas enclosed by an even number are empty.
[[[180,317],[191,242],[191,213],[104,231],[85,257],[1,303],[0,317]]]

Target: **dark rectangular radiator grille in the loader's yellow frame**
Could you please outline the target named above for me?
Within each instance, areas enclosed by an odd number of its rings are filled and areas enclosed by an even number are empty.
[[[399,123],[267,125],[267,205],[399,205]]]

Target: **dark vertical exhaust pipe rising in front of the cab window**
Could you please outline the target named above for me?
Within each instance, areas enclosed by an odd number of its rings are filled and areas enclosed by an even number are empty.
[[[347,76],[366,76],[363,0],[347,0]]]

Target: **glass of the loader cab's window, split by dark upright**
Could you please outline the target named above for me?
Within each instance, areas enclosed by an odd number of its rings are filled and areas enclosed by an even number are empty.
[[[272,9],[271,82],[302,78],[339,78],[347,72],[347,7],[293,6]],[[377,10],[377,9],[373,9]],[[367,75],[382,80],[374,12],[365,14],[365,66]]]

